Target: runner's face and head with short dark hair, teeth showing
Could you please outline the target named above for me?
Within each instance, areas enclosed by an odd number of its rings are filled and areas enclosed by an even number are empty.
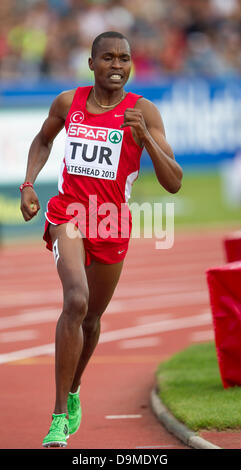
[[[94,59],[89,59],[95,82],[108,90],[118,90],[127,82],[131,71],[131,53],[126,39],[102,38]]]

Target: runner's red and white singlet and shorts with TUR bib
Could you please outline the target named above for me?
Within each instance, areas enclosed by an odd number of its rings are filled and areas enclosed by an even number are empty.
[[[86,109],[92,88],[77,88],[65,121],[59,194],[48,201],[43,238],[52,250],[49,223],[71,221],[84,235],[86,265],[92,258],[112,264],[121,261],[128,249],[131,214],[127,203],[142,153],[131,128],[120,126],[126,108],[134,108],[141,96],[129,92],[114,109],[93,114]]]

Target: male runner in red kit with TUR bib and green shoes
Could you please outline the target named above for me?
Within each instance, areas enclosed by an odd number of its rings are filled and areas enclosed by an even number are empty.
[[[40,209],[33,184],[49,157],[54,138],[65,126],[59,194],[48,202],[44,233],[47,247],[54,252],[64,295],[56,327],[56,401],[49,433],[43,440],[45,447],[66,446],[69,434],[80,425],[80,380],[98,343],[100,318],[112,298],[127,253],[131,217],[128,209],[121,221],[120,209],[128,207],[143,148],[167,191],[177,192],[182,180],[158,109],[147,99],[124,90],[131,70],[126,37],[118,32],[97,36],[89,67],[94,72],[94,86],[63,92],[53,101],[30,146],[25,183],[20,186],[21,210],[28,221]],[[73,218],[73,203],[87,210],[86,236],[81,226],[83,217]],[[103,217],[106,210],[102,210],[105,203],[118,209],[114,225],[110,221],[116,230],[109,236]],[[91,226],[95,204],[97,226],[102,229],[97,232]],[[74,207],[78,212],[79,206]],[[82,237],[69,235],[69,221]]]

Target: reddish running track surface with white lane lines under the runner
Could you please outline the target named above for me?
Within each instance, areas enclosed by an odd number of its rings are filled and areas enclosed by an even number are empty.
[[[156,250],[154,239],[131,240],[83,377],[81,428],[68,448],[186,448],[153,415],[150,392],[160,361],[214,338],[205,271],[225,262],[224,236],[179,233],[169,250]],[[43,243],[1,251],[0,447],[38,449],[54,406],[62,289]]]

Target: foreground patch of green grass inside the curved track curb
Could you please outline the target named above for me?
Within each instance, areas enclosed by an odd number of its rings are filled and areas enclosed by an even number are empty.
[[[157,383],[162,402],[190,429],[241,428],[241,387],[223,388],[213,342],[160,364]]]

